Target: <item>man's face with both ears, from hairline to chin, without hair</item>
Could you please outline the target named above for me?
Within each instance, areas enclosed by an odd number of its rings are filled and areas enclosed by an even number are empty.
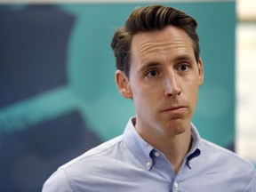
[[[144,138],[186,132],[204,78],[188,35],[172,26],[142,32],[133,36],[131,51],[129,80],[119,71],[116,82],[123,96],[133,99],[136,130]]]

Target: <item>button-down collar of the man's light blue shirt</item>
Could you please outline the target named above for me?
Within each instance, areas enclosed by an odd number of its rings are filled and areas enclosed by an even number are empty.
[[[136,118],[133,116],[128,124],[126,124],[125,130],[124,130],[124,142],[126,146],[132,151],[133,155],[136,156],[142,164],[146,166],[146,168],[149,170],[153,164],[152,159],[150,157],[150,153],[153,150],[156,150],[153,148],[146,140],[143,140],[139,133],[136,132],[134,124],[135,124]],[[191,148],[188,152],[188,154],[184,157],[184,161],[186,161],[186,164],[189,168],[191,168],[190,161],[196,157],[200,156],[201,151],[199,149],[199,142],[200,142],[200,135],[199,132],[196,130],[196,126],[194,124],[190,124],[191,128],[191,137],[192,137],[192,144]]]

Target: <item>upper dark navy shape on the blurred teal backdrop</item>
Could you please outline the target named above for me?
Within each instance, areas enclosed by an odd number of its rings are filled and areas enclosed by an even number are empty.
[[[68,83],[67,44],[75,20],[50,5],[0,6],[0,108]]]

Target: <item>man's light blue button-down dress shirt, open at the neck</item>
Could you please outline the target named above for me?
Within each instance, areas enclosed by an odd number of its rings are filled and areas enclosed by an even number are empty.
[[[44,192],[256,192],[255,169],[236,154],[201,139],[191,124],[193,143],[175,174],[165,156],[135,131],[92,148],[44,183]]]

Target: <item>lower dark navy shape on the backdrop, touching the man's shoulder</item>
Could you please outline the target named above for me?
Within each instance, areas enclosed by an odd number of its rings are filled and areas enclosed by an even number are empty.
[[[0,135],[0,191],[41,191],[57,167],[98,145],[77,111]]]

